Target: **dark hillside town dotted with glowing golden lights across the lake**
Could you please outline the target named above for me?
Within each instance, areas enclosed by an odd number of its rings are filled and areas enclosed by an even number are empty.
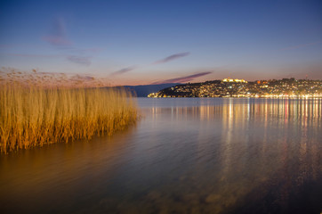
[[[167,87],[148,97],[322,97],[322,80],[283,78],[247,82],[224,78]]]

